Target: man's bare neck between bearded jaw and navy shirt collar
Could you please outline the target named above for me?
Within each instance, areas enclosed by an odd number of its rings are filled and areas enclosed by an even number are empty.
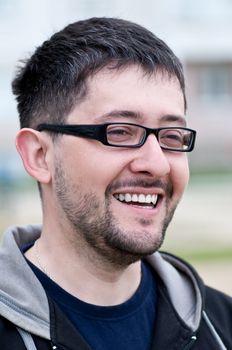
[[[74,249],[71,242],[52,242],[50,237],[42,234],[25,255],[70,294],[90,304],[110,306],[135,293],[141,280],[140,261],[115,267],[83,244]]]

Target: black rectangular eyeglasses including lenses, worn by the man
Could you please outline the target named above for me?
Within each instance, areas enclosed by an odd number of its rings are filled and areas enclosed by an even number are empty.
[[[85,137],[98,140],[106,146],[137,148],[154,134],[163,150],[190,152],[194,148],[196,131],[183,127],[151,129],[131,123],[106,123],[93,125],[40,124],[38,131]]]

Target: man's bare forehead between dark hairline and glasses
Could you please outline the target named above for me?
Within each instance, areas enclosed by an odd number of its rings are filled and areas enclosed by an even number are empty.
[[[120,114],[147,125],[167,115],[183,118],[184,97],[177,78],[159,71],[147,74],[135,65],[104,68],[87,80],[87,94],[68,122],[101,123]]]

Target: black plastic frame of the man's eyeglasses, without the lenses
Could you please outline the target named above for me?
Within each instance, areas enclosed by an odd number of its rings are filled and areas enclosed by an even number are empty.
[[[140,141],[140,143],[136,145],[114,145],[108,142],[107,140],[107,127],[109,125],[131,125],[131,126],[137,126],[139,128],[142,128],[145,130],[145,136]],[[191,152],[194,149],[195,140],[196,140],[196,134],[197,132],[193,129],[189,129],[186,127],[161,127],[161,128],[148,128],[143,125],[134,124],[134,123],[118,123],[118,122],[112,122],[112,123],[104,123],[104,124],[47,124],[42,123],[39,124],[36,128],[37,131],[49,131],[49,132],[55,132],[65,135],[72,135],[77,137],[84,137],[88,139],[94,139],[97,141],[100,141],[105,146],[110,147],[120,147],[120,148],[139,148],[142,147],[148,136],[150,134],[154,134],[156,136],[157,141],[159,142],[159,132],[161,130],[186,130],[191,133],[191,143],[188,147],[188,149],[175,149],[175,148],[169,148],[169,147],[163,147],[160,145],[161,149],[167,150],[167,151],[173,151],[173,152]],[[159,143],[160,144],[160,143]]]

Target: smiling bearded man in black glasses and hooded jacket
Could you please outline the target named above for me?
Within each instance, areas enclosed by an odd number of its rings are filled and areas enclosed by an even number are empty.
[[[5,234],[1,349],[231,349],[231,299],[158,252],[195,141],[173,52],[92,18],[44,42],[13,91],[43,223]]]

